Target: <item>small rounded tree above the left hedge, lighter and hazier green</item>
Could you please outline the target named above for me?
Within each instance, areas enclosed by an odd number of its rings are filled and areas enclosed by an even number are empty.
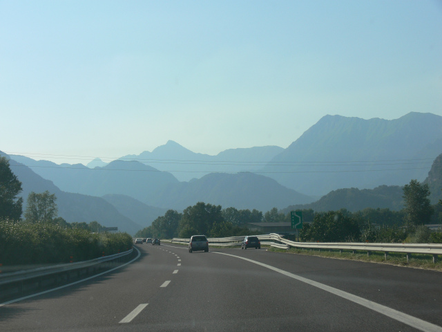
[[[55,194],[49,194],[48,190],[41,194],[30,192],[25,212],[26,221],[31,223],[52,222],[57,216],[56,200]]]

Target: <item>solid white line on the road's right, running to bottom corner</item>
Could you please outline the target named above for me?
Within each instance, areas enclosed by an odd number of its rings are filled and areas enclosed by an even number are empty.
[[[269,268],[270,270],[281,273],[282,275],[287,275],[287,277],[291,277],[291,278],[296,279],[300,282],[305,282],[306,284],[320,288],[323,291],[327,291],[327,292],[332,293],[334,295],[338,295],[339,297],[343,297],[344,299],[348,299],[349,301],[352,301],[354,303],[360,304],[361,306],[365,306],[365,308],[369,308],[369,309],[372,309],[373,311],[376,311],[378,313],[382,313],[383,315],[385,315],[387,317],[390,317],[394,320],[397,320],[398,322],[412,326],[415,329],[419,329],[419,330],[425,331],[425,332],[442,332],[441,326],[432,324],[430,322],[426,322],[425,320],[421,320],[421,319],[414,317],[412,315],[407,315],[406,313],[402,313],[401,311],[394,310],[393,308],[390,308],[388,306],[383,306],[382,304],[372,302],[369,299],[364,299],[363,297],[359,297],[357,295],[353,295],[353,294],[347,293],[345,291],[340,291],[340,289],[338,289],[338,288],[327,286],[325,284],[321,284],[320,282],[314,282],[313,280],[310,280],[310,279],[307,279],[304,277],[300,277],[299,275],[295,275],[294,273],[289,273],[285,270],[281,270],[280,268],[275,268],[271,265],[267,265],[267,264],[261,263],[259,261],[253,261],[252,259],[248,259],[248,258],[240,257],[240,256],[235,256],[235,255],[230,255],[230,254],[226,254],[224,252],[215,252],[215,254],[226,255],[226,256],[236,257],[239,259],[244,259],[244,261],[249,261],[253,264],[258,264],[258,265],[263,266],[265,268]]]

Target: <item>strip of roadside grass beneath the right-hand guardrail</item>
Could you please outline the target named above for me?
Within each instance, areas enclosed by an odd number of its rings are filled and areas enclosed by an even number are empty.
[[[342,253],[340,253],[339,250],[302,250],[297,248],[290,248],[286,250],[273,247],[270,247],[268,250],[271,252],[285,252],[289,254],[318,256],[332,259],[367,261],[370,263],[389,264],[410,268],[423,268],[425,270],[436,270],[442,272],[442,257],[440,255],[436,263],[433,263],[432,255],[412,254],[410,259],[407,261],[405,253],[402,252],[389,252],[387,259],[385,259],[385,253],[378,251],[372,251],[370,255],[367,255],[367,251],[359,250],[355,250],[355,253],[353,253],[352,250],[342,250]]]

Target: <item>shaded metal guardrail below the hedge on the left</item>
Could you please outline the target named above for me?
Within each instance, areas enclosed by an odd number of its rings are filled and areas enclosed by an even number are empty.
[[[76,263],[57,264],[53,266],[45,266],[41,268],[32,268],[28,270],[21,270],[13,273],[1,273],[0,274],[0,298],[8,295],[7,290],[10,288],[17,288],[15,293],[22,293],[23,286],[28,282],[30,284],[37,284],[37,288],[40,288],[46,279],[55,279],[54,284],[61,282],[61,279],[69,281],[71,274],[77,272],[75,277],[79,278],[81,275],[90,273],[90,269],[93,272],[98,269],[99,264],[104,264],[111,261],[122,261],[126,259],[127,255],[133,253],[133,248],[125,252],[120,252],[115,255],[109,255],[105,257],[99,257],[90,259],[88,261],[79,261]],[[84,270],[84,273],[81,273]],[[47,281],[47,280],[46,280]]]

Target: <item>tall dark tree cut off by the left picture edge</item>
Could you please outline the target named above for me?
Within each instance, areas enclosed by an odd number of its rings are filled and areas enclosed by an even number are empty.
[[[23,198],[17,197],[20,192],[21,182],[12,173],[9,160],[0,157],[0,219],[21,218]]]

